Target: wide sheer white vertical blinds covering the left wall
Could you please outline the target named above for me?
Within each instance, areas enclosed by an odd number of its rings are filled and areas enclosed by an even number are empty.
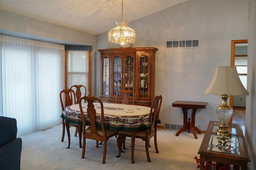
[[[64,45],[0,35],[0,49],[0,115],[18,135],[60,124]]]

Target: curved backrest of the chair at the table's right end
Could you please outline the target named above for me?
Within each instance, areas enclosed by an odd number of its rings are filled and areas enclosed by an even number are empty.
[[[157,127],[158,116],[160,112],[162,104],[162,96],[154,97],[151,103],[150,115],[149,115],[149,122],[150,122],[150,133],[153,132]]]

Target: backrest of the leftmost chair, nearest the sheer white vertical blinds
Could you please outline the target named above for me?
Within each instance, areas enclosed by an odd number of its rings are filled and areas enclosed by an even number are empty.
[[[65,102],[62,100],[62,95],[65,94],[64,96],[64,100]],[[62,107],[62,111],[64,111],[65,107],[70,106],[73,104],[73,98],[74,98],[74,103],[76,103],[76,97],[75,97],[75,92],[72,89],[66,89],[66,90],[62,90],[60,92],[60,104]],[[63,104],[65,103],[65,105]]]

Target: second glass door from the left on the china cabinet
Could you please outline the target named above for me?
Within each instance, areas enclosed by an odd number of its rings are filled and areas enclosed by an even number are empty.
[[[121,57],[116,55],[113,58],[113,96],[122,89],[122,60]]]

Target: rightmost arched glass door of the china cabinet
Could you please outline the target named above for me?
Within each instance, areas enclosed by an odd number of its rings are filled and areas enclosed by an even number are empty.
[[[149,98],[149,88],[150,88],[150,73],[149,73],[149,63],[150,59],[147,55],[142,55],[139,58],[139,93],[137,93],[138,98]]]

